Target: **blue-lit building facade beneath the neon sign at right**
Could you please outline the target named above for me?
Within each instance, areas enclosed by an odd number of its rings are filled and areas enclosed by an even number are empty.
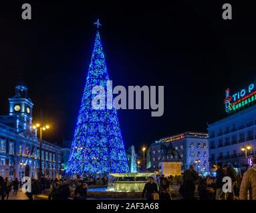
[[[256,148],[256,105],[209,124],[208,132],[211,166],[223,162],[246,170]]]

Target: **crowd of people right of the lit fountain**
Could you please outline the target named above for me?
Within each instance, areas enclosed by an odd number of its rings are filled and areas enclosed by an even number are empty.
[[[173,177],[160,176],[159,190],[154,178],[145,184],[142,198],[148,200],[170,200]],[[231,181],[231,184],[227,183]],[[176,181],[177,183],[178,181]],[[227,192],[223,191],[223,186]],[[216,176],[200,176],[193,165],[184,171],[178,192],[184,200],[256,200],[256,156],[244,174],[237,174],[230,165],[217,164]]]

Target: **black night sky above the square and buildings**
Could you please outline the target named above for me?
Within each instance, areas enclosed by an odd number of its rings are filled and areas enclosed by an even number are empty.
[[[1,1],[0,114],[21,77],[53,124],[44,138],[72,138],[97,18],[114,85],[164,85],[164,115],[118,110],[126,148],[186,130],[207,131],[225,116],[225,89],[256,81],[256,7],[247,1]],[[208,2],[208,3],[207,3]],[[31,3],[32,20],[21,19]],[[222,19],[223,3],[233,20]]]

